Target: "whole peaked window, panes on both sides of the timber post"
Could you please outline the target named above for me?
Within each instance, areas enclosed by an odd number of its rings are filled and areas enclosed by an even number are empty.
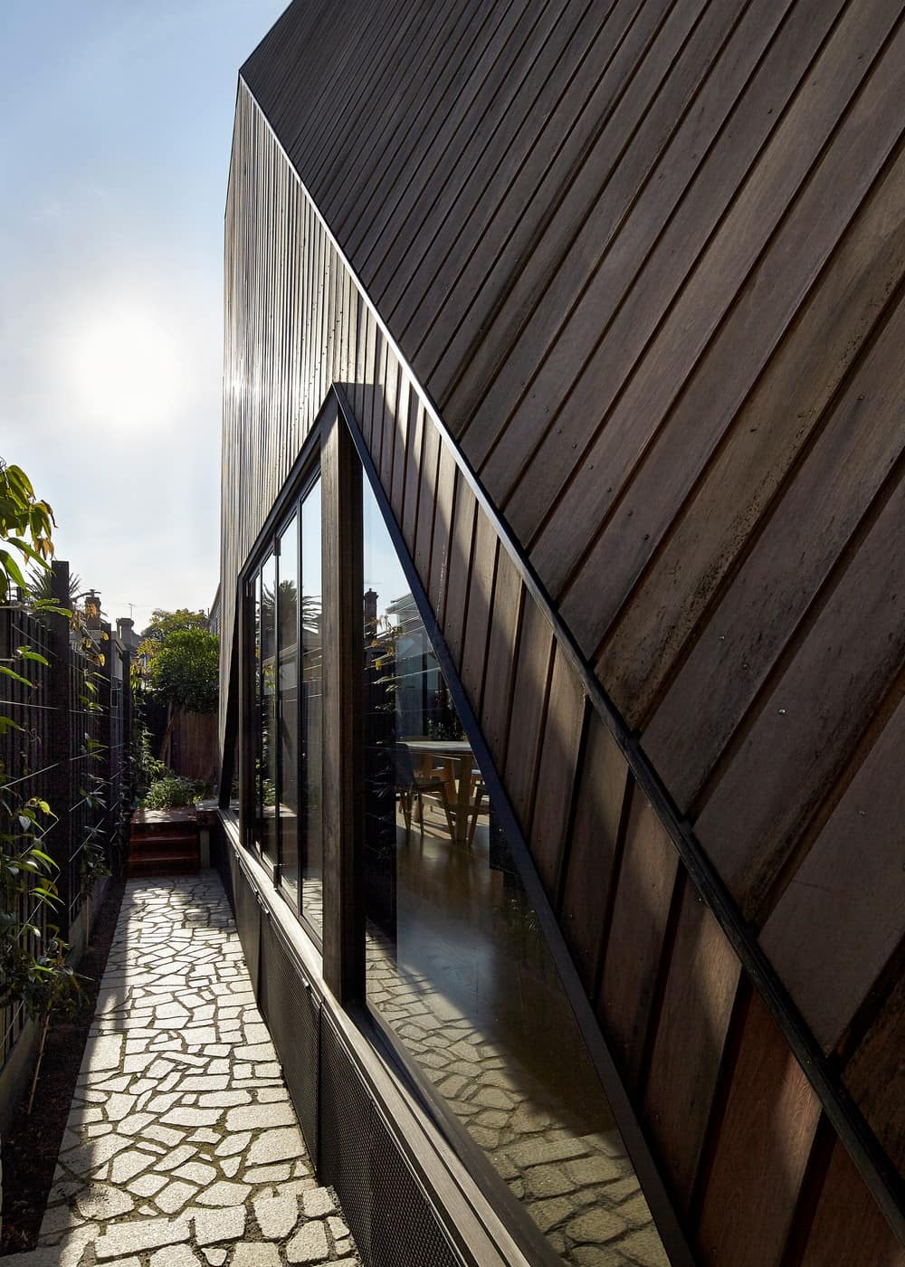
[[[345,428],[336,414],[332,424]],[[365,1031],[375,1028],[378,1045],[385,1040],[406,1067],[409,1090],[527,1259],[638,1261],[638,1251],[665,1267],[526,889],[525,845],[507,835],[512,815],[475,755],[474,720],[440,636],[432,640],[423,590],[349,432],[324,435],[335,446],[324,466],[332,493],[314,474],[288,498],[247,583],[246,841],[307,931],[326,941],[327,984],[364,1001],[374,1021]],[[326,613],[322,519],[347,569],[327,574]],[[327,754],[324,627],[336,744]],[[324,806],[324,763],[330,786],[360,791]],[[326,929],[324,815],[336,867]],[[346,883],[351,901],[340,908]],[[626,1252],[613,1257],[620,1244]]]

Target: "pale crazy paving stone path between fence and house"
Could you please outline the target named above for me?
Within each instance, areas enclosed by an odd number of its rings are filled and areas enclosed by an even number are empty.
[[[214,872],[125,888],[38,1245],[4,1267],[359,1263]]]

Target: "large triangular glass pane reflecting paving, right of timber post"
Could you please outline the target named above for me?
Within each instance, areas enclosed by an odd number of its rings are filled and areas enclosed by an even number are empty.
[[[364,585],[369,1007],[546,1237],[537,1261],[665,1267],[366,479]]]

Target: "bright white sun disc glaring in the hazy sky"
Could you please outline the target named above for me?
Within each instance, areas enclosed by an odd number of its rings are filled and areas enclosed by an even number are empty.
[[[186,404],[188,350],[152,308],[95,309],[67,343],[74,405],[93,426],[166,427]]]

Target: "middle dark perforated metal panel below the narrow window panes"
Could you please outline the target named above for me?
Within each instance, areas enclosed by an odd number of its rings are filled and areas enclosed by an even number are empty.
[[[283,1066],[302,1134],[317,1167],[321,1002],[267,916],[261,921],[260,1005]]]

